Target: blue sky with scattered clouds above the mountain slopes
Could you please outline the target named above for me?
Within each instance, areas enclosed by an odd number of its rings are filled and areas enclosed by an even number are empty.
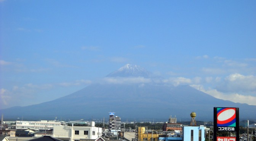
[[[66,96],[127,63],[169,85],[256,105],[255,7],[255,0],[0,0],[0,109]]]

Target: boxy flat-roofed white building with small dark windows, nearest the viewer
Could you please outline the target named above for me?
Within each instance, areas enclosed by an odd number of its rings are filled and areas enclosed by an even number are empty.
[[[63,141],[79,141],[80,139],[97,139],[102,128],[93,126],[54,126],[53,137]]]

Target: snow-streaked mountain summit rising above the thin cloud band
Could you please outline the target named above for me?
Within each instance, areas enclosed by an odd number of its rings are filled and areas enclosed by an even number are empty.
[[[114,71],[107,75],[107,77],[149,77],[150,72],[148,72],[143,67],[138,65],[126,64],[117,71]]]

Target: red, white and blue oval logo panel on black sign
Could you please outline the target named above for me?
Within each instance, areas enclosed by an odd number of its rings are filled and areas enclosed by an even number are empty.
[[[217,126],[235,127],[236,108],[217,108]]]

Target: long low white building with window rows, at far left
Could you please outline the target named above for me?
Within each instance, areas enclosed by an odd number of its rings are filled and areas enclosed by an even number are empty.
[[[16,121],[16,129],[53,129],[53,126],[60,126],[61,122],[56,121]]]

